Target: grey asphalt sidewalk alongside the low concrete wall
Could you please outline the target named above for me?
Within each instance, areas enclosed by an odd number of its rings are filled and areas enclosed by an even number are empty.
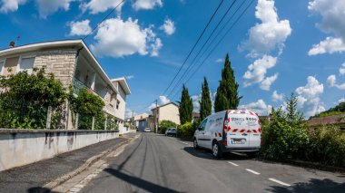
[[[0,192],[40,192],[49,181],[78,169],[84,162],[104,150],[109,150],[120,143],[133,138],[135,133],[125,134],[120,138],[105,140],[94,145],[60,154],[53,159],[45,159],[33,164],[0,172]]]

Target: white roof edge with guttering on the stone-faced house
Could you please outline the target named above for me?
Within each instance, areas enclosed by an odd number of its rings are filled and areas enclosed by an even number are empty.
[[[110,81],[110,78],[108,75],[104,72],[102,66],[100,63],[98,63],[97,59],[94,57],[94,54],[90,51],[90,49],[87,47],[87,45],[84,43],[82,39],[74,39],[74,40],[58,40],[58,41],[49,41],[49,42],[42,42],[42,43],[30,43],[30,44],[25,44],[21,46],[16,46],[13,48],[6,48],[3,50],[0,50],[0,57],[9,55],[9,54],[16,54],[16,53],[25,53],[25,52],[32,52],[36,50],[41,50],[41,49],[47,49],[47,48],[57,48],[57,47],[73,47],[75,48],[84,48],[83,51],[86,51],[93,62],[95,63],[95,70],[102,76],[104,81],[110,85],[112,88],[113,92],[119,93],[115,86],[113,85],[113,82]],[[83,52],[82,51],[82,52]]]

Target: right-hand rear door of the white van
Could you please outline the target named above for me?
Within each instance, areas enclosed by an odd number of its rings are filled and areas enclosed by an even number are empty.
[[[250,147],[260,147],[261,145],[261,125],[259,121],[259,117],[250,111],[247,116],[248,118],[248,126],[249,130],[249,146]]]

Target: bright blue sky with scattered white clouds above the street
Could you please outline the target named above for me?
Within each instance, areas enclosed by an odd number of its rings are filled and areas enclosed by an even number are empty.
[[[6,48],[18,35],[17,45],[83,38],[120,2],[0,0],[0,48]],[[168,90],[163,95],[163,91],[220,2],[127,0],[85,39],[109,77],[127,77],[132,90],[127,98],[128,112],[148,111],[155,99],[159,103],[179,100],[181,84],[173,92]],[[223,1],[182,72],[233,2]],[[224,21],[242,2],[234,2]],[[246,1],[234,18],[250,2]],[[226,53],[230,54],[240,84],[242,109],[264,115],[271,106],[284,106],[285,97],[295,92],[299,108],[309,117],[345,101],[343,18],[343,0],[254,0],[186,83],[195,111],[198,110],[203,76],[207,77],[214,96]]]

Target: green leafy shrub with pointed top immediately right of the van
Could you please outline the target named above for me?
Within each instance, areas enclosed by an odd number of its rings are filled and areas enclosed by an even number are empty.
[[[291,94],[287,111],[272,111],[272,121],[262,125],[261,153],[269,159],[305,159],[309,145],[303,115],[297,111],[297,98]]]

